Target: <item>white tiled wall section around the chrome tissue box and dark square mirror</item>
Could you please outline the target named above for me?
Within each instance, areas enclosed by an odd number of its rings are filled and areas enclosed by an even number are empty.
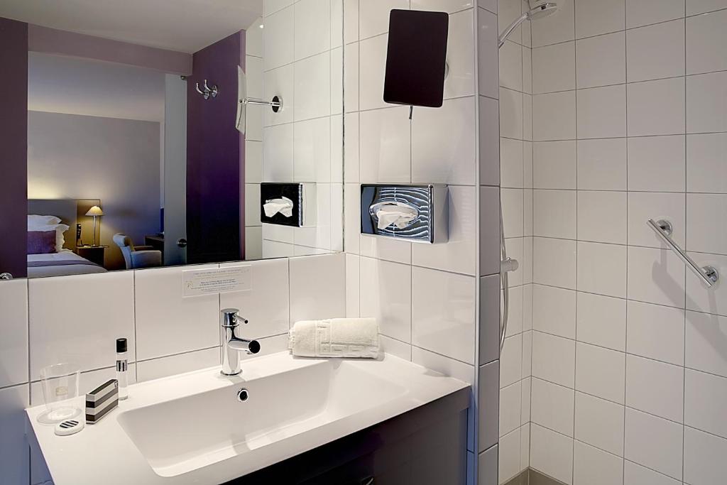
[[[497,10],[493,2],[484,3]],[[449,12],[443,106],[414,108],[411,121],[406,106],[382,100],[389,12],[409,8]],[[497,19],[469,0],[345,0],[344,10],[348,313],[376,316],[387,352],[473,384],[483,382],[479,364],[498,358],[497,348],[494,356],[491,350],[497,330],[486,337],[482,330],[497,328],[497,307],[491,307],[497,305],[499,278],[494,285],[486,278],[478,281],[499,271]],[[481,37],[478,44],[476,37]],[[493,134],[494,143],[483,143]],[[430,246],[361,235],[361,183],[449,185],[449,242]],[[478,190],[479,183],[491,186]],[[478,232],[484,227],[489,231]],[[489,355],[484,360],[475,345],[480,332],[483,348],[490,349],[480,350]],[[494,397],[494,404],[490,400],[486,411],[480,408],[481,428],[486,422],[497,425],[495,375],[487,380],[491,387],[485,396]],[[470,442],[472,466],[475,452],[489,449],[478,461],[490,476],[497,473],[491,466],[496,435]]]

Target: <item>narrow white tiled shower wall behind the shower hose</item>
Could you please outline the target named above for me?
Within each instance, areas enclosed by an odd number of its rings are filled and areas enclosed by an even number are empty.
[[[521,13],[529,10],[527,1],[499,0],[497,18],[493,29],[503,31]],[[494,17],[494,15],[492,16]],[[558,56],[550,55],[551,58]],[[503,223],[507,255],[518,260],[518,270],[509,274],[510,302],[505,345],[500,356],[500,406],[499,406],[499,483],[503,484],[529,466],[531,438],[531,348],[532,328],[537,322],[533,316],[533,221],[543,221],[534,208],[542,204],[535,199],[542,198],[545,191],[534,191],[552,183],[547,177],[553,168],[545,167],[534,185],[534,156],[549,156],[554,164],[575,163],[574,151],[566,145],[547,147],[550,153],[534,153],[538,145],[533,143],[533,93],[537,87],[553,85],[558,79],[537,79],[531,49],[529,23],[523,23],[508,37],[499,49],[499,185],[502,196]],[[550,62],[545,59],[539,62]],[[567,68],[561,65],[560,69]],[[540,71],[538,71],[540,72]],[[482,73],[481,73],[482,75]],[[555,86],[553,86],[555,87]],[[568,87],[557,87],[568,89]],[[572,87],[571,87],[572,89]],[[497,92],[495,93],[497,97]],[[483,147],[483,140],[480,140]],[[497,181],[496,181],[497,182]],[[555,202],[555,201],[554,201]],[[549,230],[558,231],[558,226],[567,217],[550,217],[553,222]],[[499,215],[497,215],[499,218]],[[547,223],[546,223],[547,224]],[[499,245],[499,241],[498,241]],[[498,278],[499,280],[499,278]],[[499,281],[498,281],[499,286]]]

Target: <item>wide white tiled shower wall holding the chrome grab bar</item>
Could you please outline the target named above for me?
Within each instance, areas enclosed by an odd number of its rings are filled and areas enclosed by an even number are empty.
[[[727,3],[558,7],[531,23],[530,465],[574,485],[722,483],[723,284],[646,220],[727,270]]]

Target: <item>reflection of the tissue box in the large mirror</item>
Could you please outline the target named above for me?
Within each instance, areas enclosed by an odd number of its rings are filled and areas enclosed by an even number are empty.
[[[281,208],[273,215],[265,214],[265,204],[292,201],[292,208]],[[278,204],[280,205],[280,204]],[[315,183],[261,183],[260,222],[289,225],[294,228],[316,225]]]

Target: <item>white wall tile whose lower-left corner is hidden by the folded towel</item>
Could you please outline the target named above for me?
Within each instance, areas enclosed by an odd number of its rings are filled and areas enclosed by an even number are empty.
[[[411,268],[361,257],[361,316],[372,316],[379,332],[411,342]]]

